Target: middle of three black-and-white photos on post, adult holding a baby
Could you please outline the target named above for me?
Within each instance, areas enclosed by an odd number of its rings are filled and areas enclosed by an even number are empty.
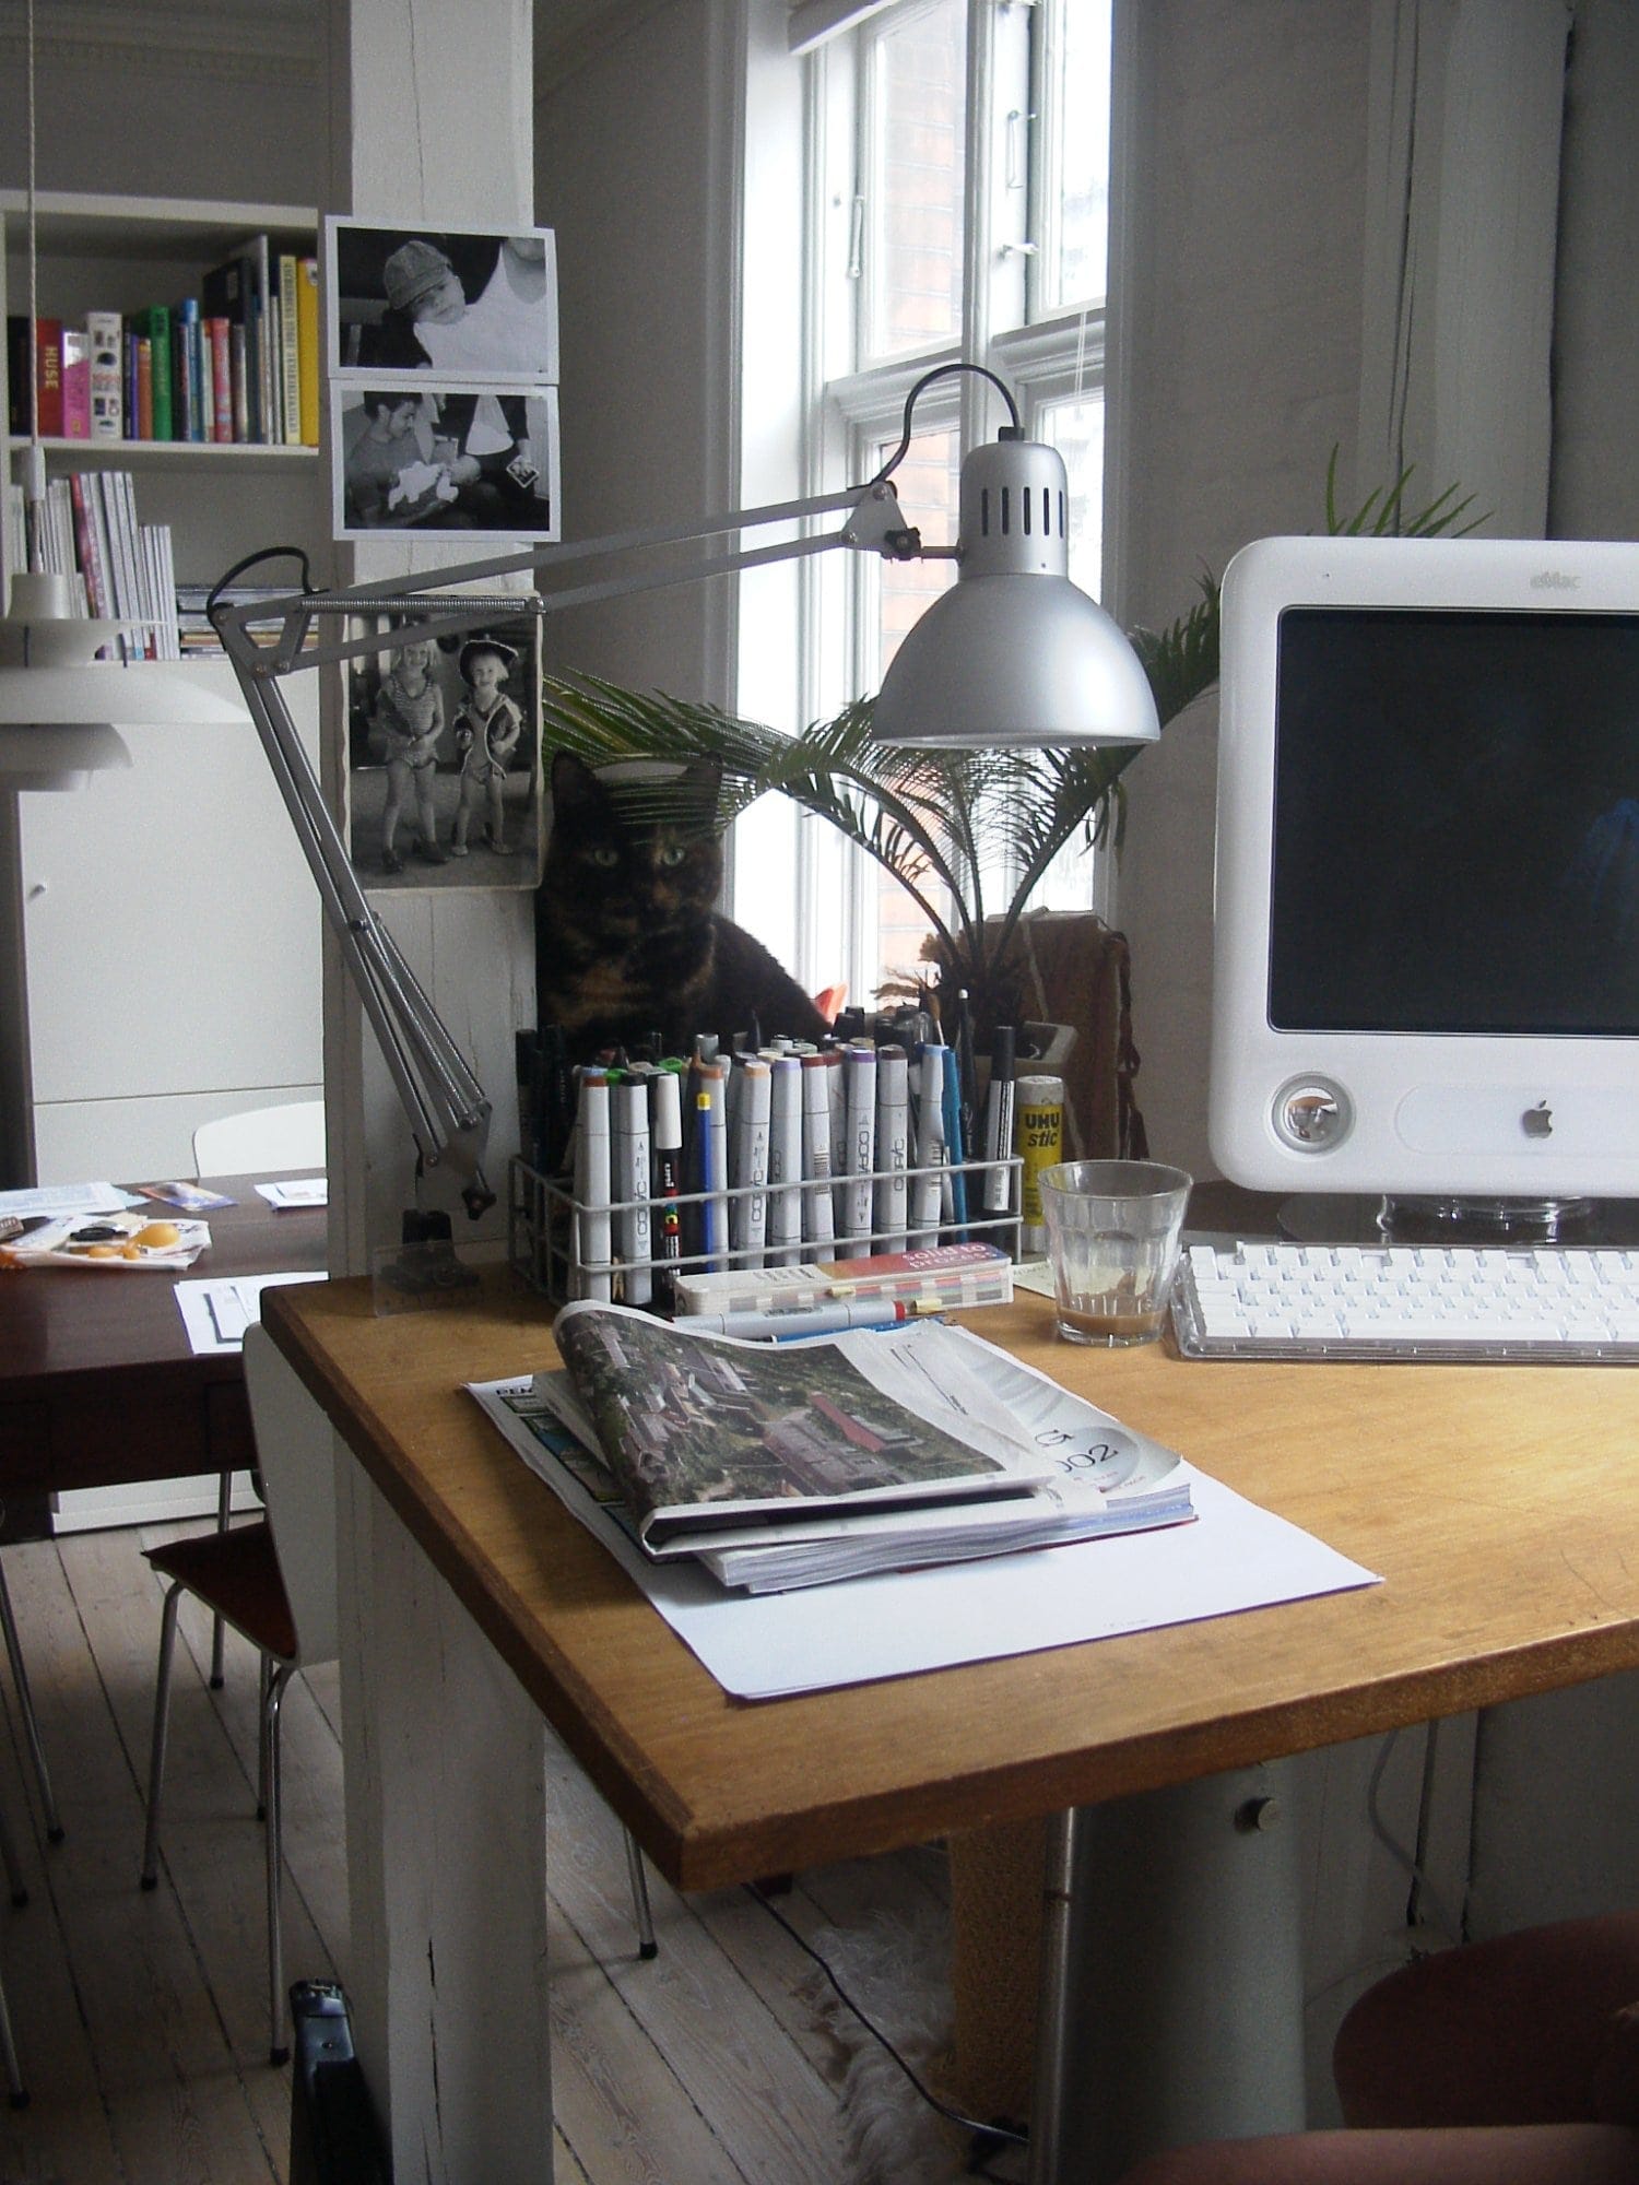
[[[334,535],[555,540],[557,389],[332,380]]]

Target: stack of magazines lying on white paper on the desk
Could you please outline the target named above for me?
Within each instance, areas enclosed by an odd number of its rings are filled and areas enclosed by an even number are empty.
[[[1184,1523],[1176,1451],[938,1320],[739,1342],[618,1304],[557,1318],[562,1368],[472,1383],[594,1532],[787,1591]]]

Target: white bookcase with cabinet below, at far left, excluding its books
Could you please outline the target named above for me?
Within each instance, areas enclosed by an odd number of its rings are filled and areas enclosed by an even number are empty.
[[[199,295],[201,277],[253,236],[297,256],[317,240],[317,212],[291,205],[68,192],[35,203],[39,312],[66,321]],[[26,315],[22,192],[0,192],[0,304]],[[7,481],[20,479],[26,446],[7,437]],[[328,564],[315,448],[44,448],[48,476],[129,470],[138,518],[170,524],[179,583],[212,583],[269,544]],[[225,660],[181,673],[234,688]],[[317,684],[302,677],[291,697],[315,760]],[[321,1090],[321,911],[251,723],[122,734],[129,773],[98,776],[79,795],[0,795],[4,1184],[186,1176],[197,1123]]]

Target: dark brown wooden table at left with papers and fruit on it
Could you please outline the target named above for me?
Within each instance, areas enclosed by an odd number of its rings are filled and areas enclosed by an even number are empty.
[[[323,1210],[275,1213],[256,1182],[214,1184],[236,1204],[205,1215],[210,1250],[188,1276],[323,1272]],[[170,1276],[0,1267],[7,1538],[50,1532],[46,1499],[66,1488],[188,1479],[251,1462],[238,1353],[192,1353]]]

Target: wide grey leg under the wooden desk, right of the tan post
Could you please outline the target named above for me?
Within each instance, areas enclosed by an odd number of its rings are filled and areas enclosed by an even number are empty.
[[[1029,2185],[1110,2185],[1156,2148],[1302,2130],[1292,1768],[1049,1829]]]

